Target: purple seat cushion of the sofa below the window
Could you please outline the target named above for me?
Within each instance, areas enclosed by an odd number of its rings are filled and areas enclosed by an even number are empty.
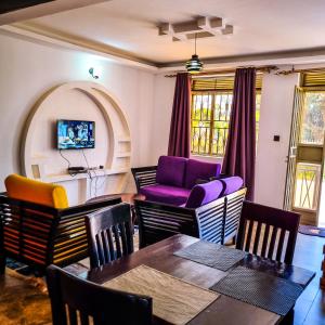
[[[145,196],[146,200],[180,206],[186,202],[191,191],[187,188],[156,184],[140,188],[140,193]]]

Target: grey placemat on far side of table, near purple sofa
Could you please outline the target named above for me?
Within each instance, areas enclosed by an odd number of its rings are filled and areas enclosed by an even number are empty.
[[[246,253],[243,250],[199,240],[176,251],[174,255],[221,271],[227,271],[243,260]]]

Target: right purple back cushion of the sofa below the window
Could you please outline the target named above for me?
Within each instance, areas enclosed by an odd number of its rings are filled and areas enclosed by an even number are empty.
[[[198,179],[208,180],[211,177],[218,177],[220,174],[220,164],[188,159],[186,166],[185,187],[192,188]]]

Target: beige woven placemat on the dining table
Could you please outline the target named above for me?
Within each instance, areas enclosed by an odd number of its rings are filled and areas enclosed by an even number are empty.
[[[220,296],[146,265],[132,269],[104,286],[152,297],[154,315],[176,325],[188,323]]]

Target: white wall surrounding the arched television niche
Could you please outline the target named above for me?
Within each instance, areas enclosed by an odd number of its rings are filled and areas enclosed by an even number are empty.
[[[0,191],[4,191],[3,180],[8,174],[21,171],[22,130],[35,102],[60,83],[94,81],[88,73],[92,66],[102,72],[96,82],[106,87],[125,108],[132,136],[132,165],[150,162],[148,126],[155,80],[152,73],[117,65],[90,54],[0,35]],[[132,186],[132,182],[130,184]]]

